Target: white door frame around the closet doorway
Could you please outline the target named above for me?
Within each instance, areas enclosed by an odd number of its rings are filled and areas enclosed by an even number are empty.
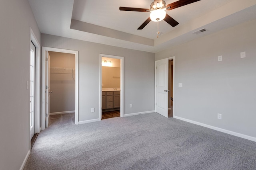
[[[79,63],[78,63],[78,59],[79,59],[79,56],[78,56],[78,51],[74,51],[74,50],[66,50],[66,49],[58,49],[58,48],[52,48],[52,47],[42,47],[42,108],[41,108],[41,111],[42,111],[42,125],[41,125],[41,129],[44,130],[46,128],[46,94],[45,94],[45,86],[46,86],[46,81],[45,81],[45,78],[46,78],[46,74],[45,74],[45,58],[46,58],[46,54],[47,54],[47,51],[53,51],[53,52],[59,52],[59,53],[70,53],[70,54],[74,54],[75,55],[75,60],[76,60],[76,90],[75,90],[75,100],[76,100],[76,104],[75,104],[75,124],[78,125],[78,104],[79,104],[79,98],[78,98],[78,95],[79,95],[79,89],[78,89],[78,83],[79,83],[79,76],[78,76],[78,73],[79,73]]]

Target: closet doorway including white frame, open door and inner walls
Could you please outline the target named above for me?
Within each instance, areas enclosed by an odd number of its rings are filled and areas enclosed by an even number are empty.
[[[42,130],[50,115],[74,113],[77,125],[78,51],[42,47],[42,56]]]

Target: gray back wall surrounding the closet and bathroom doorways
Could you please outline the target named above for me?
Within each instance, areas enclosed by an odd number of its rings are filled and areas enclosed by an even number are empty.
[[[79,51],[79,121],[99,118],[100,54],[124,57],[124,114],[154,110],[154,53],[47,34],[41,45]]]

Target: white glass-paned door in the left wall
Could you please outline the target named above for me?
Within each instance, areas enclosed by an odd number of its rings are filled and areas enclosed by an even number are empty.
[[[30,42],[30,140],[35,134],[35,59],[36,47]]]

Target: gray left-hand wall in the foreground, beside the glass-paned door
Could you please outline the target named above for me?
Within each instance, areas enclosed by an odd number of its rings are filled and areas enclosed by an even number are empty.
[[[0,169],[20,169],[29,148],[30,27],[40,31],[27,0],[0,1]]]

